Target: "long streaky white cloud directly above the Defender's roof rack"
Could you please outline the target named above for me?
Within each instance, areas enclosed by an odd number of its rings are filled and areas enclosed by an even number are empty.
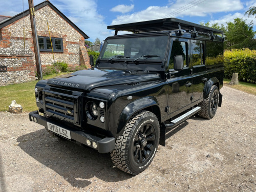
[[[237,11],[243,9],[243,5],[240,0],[201,1],[202,3],[198,5],[195,2],[195,4],[192,3],[193,5],[191,5],[189,4],[190,2],[190,0],[177,0],[175,2],[169,1],[168,6],[150,6],[145,10],[133,14],[117,16],[112,21],[112,25],[141,22],[143,20],[166,17],[206,16],[212,13]]]

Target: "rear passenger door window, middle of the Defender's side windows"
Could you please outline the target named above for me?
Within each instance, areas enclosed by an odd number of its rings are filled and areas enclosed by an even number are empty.
[[[204,64],[204,57],[203,57],[203,44],[199,42],[193,42],[192,44],[192,65],[198,66]]]

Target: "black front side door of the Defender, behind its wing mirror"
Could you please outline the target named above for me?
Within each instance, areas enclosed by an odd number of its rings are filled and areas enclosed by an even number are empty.
[[[178,112],[191,103],[193,92],[193,79],[189,67],[189,39],[172,38],[172,51],[170,53],[168,73],[168,114]],[[174,56],[182,55],[184,58],[183,70],[174,70]]]

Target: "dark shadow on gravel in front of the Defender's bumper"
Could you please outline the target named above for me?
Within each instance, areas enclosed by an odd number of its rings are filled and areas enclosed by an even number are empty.
[[[96,177],[107,182],[132,178],[114,167],[110,153],[100,154],[90,147],[52,137],[41,129],[17,138],[18,146],[40,162],[41,168],[49,167],[72,186],[86,187]]]

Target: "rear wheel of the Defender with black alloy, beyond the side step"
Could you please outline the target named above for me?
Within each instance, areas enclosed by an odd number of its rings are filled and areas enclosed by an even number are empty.
[[[215,116],[219,104],[219,89],[217,86],[212,86],[208,97],[199,103],[201,111],[198,113],[200,117],[211,119]]]

